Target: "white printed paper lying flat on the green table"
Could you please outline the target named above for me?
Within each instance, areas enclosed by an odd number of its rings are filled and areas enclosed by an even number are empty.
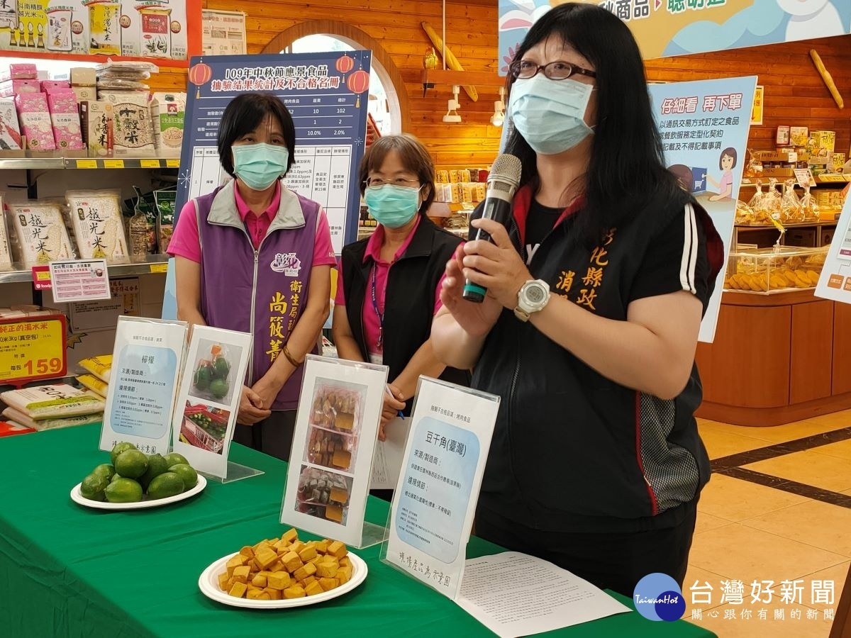
[[[567,570],[515,551],[466,561],[455,602],[500,638],[540,634],[631,611]]]

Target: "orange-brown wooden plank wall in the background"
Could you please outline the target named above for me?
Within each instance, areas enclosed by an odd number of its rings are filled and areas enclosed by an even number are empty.
[[[446,42],[470,71],[496,71],[498,0],[448,0]],[[500,128],[488,122],[496,88],[477,87],[479,100],[460,94],[461,124],[441,122],[451,87],[438,86],[423,97],[420,72],[423,55],[431,43],[420,22],[427,20],[440,33],[440,0],[206,0],[208,9],[244,11],[248,14],[248,52],[259,53],[280,32],[306,20],[342,20],[374,37],[402,74],[410,105],[411,130],[429,147],[442,168],[486,166],[499,150]],[[750,145],[774,146],[780,124],[799,124],[837,132],[837,151],[848,152],[851,122],[848,109],[840,111],[810,61],[817,48],[851,106],[851,36],[802,43],[736,49],[713,54],[649,60],[648,79],[677,82],[711,77],[758,75],[765,85],[764,125],[751,129]],[[439,54],[439,52],[438,52]],[[186,84],[186,71],[161,74],[153,88],[168,90]]]

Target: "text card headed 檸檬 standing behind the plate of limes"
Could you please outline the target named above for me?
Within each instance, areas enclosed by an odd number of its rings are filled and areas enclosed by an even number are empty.
[[[128,441],[148,454],[168,453],[185,346],[186,322],[118,317],[100,449]]]

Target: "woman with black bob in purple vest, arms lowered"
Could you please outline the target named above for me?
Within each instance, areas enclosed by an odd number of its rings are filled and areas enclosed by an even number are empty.
[[[186,203],[168,246],[180,319],[254,334],[234,439],[284,460],[336,263],[323,209],[281,181],[294,152],[281,100],[237,96],[219,129],[220,162],[234,179]]]

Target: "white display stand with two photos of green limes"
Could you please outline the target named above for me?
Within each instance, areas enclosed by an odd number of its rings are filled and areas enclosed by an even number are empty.
[[[174,452],[221,482],[262,474],[228,461],[252,339],[248,333],[195,326],[172,416]]]

